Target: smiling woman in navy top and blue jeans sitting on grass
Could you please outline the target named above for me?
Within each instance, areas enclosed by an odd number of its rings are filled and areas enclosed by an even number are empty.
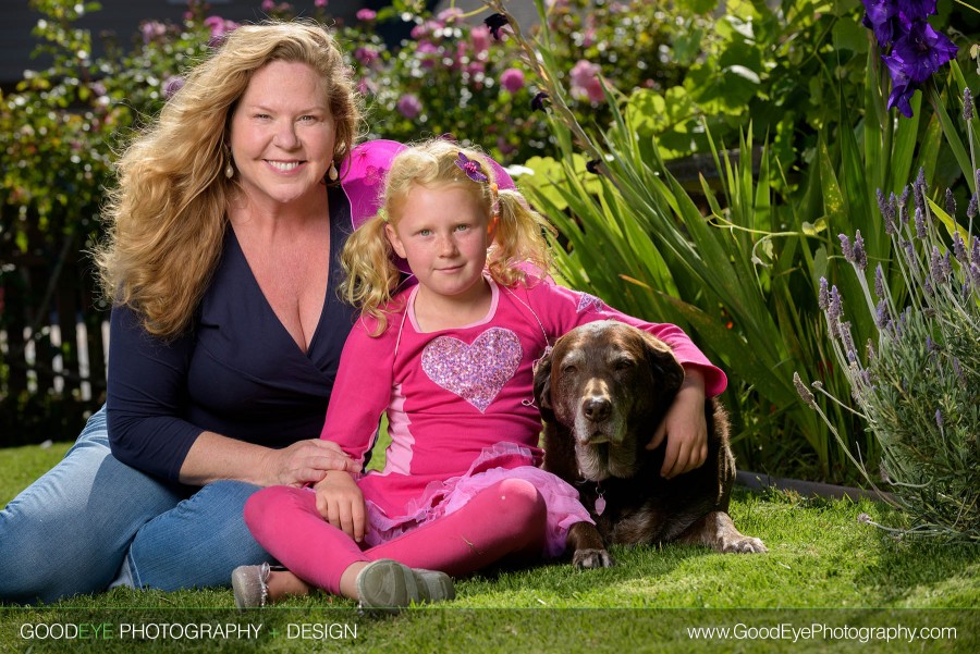
[[[253,492],[353,471],[317,436],[352,325],[336,181],[359,119],[322,28],[243,26],[123,155],[96,252],[107,405],[0,511],[0,601],[225,585],[268,558]]]

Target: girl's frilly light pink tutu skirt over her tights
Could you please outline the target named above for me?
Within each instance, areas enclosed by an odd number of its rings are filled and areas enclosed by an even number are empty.
[[[373,547],[385,543],[416,527],[448,516],[499,481],[525,479],[541,493],[548,506],[543,555],[549,558],[561,556],[565,551],[568,529],[576,522],[595,522],[578,501],[578,491],[551,472],[536,467],[535,458],[527,447],[498,443],[485,448],[464,474],[429,483],[420,497],[406,504],[402,516],[389,516],[377,504],[367,501],[370,522],[365,535],[367,545]]]

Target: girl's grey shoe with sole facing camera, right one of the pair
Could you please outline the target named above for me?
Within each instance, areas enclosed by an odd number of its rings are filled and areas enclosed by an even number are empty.
[[[399,608],[413,602],[442,602],[456,596],[453,580],[445,572],[409,568],[381,558],[357,575],[357,595],[365,608]]]

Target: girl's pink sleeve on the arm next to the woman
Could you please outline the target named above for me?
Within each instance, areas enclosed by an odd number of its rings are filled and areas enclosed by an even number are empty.
[[[351,330],[327,408],[320,437],[333,441],[357,464],[375,444],[381,415],[391,398],[396,330],[371,336],[372,321]]]

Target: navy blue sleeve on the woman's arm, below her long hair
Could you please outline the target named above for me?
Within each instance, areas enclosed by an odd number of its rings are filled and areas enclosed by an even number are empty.
[[[139,316],[113,307],[109,328],[107,419],[112,455],[137,470],[177,481],[201,429],[179,418],[187,403],[193,336],[162,341]]]

